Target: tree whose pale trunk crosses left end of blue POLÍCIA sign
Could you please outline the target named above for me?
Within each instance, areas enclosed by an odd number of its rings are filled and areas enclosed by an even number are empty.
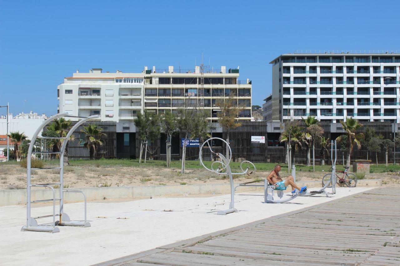
[[[182,143],[182,174],[185,172],[186,145],[189,139],[197,137],[203,139],[206,136],[210,128],[207,121],[208,116],[208,113],[202,109],[189,109],[187,107],[178,109],[176,123],[179,131],[184,135]]]

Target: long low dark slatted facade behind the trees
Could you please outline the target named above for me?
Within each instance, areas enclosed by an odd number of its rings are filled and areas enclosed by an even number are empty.
[[[98,125],[106,133],[104,137],[104,144],[98,148],[96,158],[126,158],[136,159],[139,157],[140,152],[140,140],[133,123],[115,123],[115,122],[90,122]],[[382,135],[384,139],[394,138],[393,131],[397,131],[397,125],[391,122],[361,122],[364,126],[360,129],[360,132],[364,132],[367,127],[375,129],[377,135]],[[84,124],[87,125],[88,123]],[[128,125],[129,124],[129,125]],[[215,124],[214,124],[215,125]],[[304,128],[304,124],[300,121],[299,125]],[[336,139],[340,136],[343,131],[340,123],[320,122],[320,125],[324,129],[324,137]],[[75,140],[70,141],[68,144],[68,154],[73,159],[88,159],[89,151],[82,144],[79,144],[79,140],[84,138],[83,133],[80,132],[82,126],[74,132]],[[242,122],[242,126],[231,131],[222,129],[220,127],[214,127],[210,135],[212,137],[219,137],[227,139],[229,135],[230,146],[232,149],[232,160],[243,161],[248,160],[254,163],[268,162],[268,163],[285,163],[286,161],[286,147],[284,143],[279,142],[280,131],[284,129],[284,124],[276,123],[270,125],[267,122]],[[305,130],[305,128],[304,128]],[[119,132],[118,132],[119,131]],[[269,132],[267,132],[269,131]],[[182,157],[182,147],[180,147],[180,140],[183,138],[183,133],[177,133],[172,137],[172,160],[180,160]],[[251,143],[252,136],[264,136],[265,143]],[[202,140],[204,141],[204,140]],[[222,152],[225,154],[225,147],[222,145],[222,141],[215,140],[212,143],[213,150],[216,152]],[[315,160],[316,164],[320,164],[320,151],[321,147],[319,143],[315,144]],[[366,159],[367,148],[362,145],[360,149],[354,147],[352,153],[352,160]],[[187,147],[186,159],[197,160],[199,154],[199,147]],[[393,151],[388,154],[389,163],[393,163]],[[385,152],[382,151],[375,154],[370,153],[369,158],[372,162],[376,161],[378,156],[378,162],[385,162]],[[203,157],[205,160],[210,158],[211,155],[209,149],[204,149]],[[166,135],[161,134],[160,137],[153,141],[148,141],[147,158],[153,160],[165,160],[166,159]],[[295,153],[296,163],[306,163],[306,146]],[[311,154],[312,158],[312,154]],[[343,163],[346,159],[345,153],[340,150],[338,146],[338,164]],[[396,162],[400,162],[400,149],[396,151]],[[326,154],[326,163],[330,164],[330,152]]]

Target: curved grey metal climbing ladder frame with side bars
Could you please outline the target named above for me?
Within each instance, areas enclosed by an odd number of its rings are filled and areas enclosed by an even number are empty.
[[[79,118],[80,120],[68,131],[67,135],[65,137],[43,137],[43,136],[38,136],[40,131],[44,129],[46,125],[48,125],[50,122],[54,121],[54,119],[57,119],[59,117],[74,117],[74,118]],[[30,141],[29,144],[29,149],[28,149],[28,155],[26,156],[26,177],[27,177],[27,186],[26,186],[26,225],[22,226],[21,231],[38,231],[38,232],[51,232],[51,233],[56,233],[60,232],[60,229],[56,227],[57,225],[61,226],[82,226],[82,227],[89,227],[90,223],[86,220],[86,195],[82,191],[77,191],[77,190],[64,190],[64,151],[66,148],[66,145],[68,143],[68,140],[70,139],[72,133],[83,123],[90,119],[98,119],[100,118],[99,115],[92,115],[89,117],[80,117],[80,116],[72,116],[68,115],[67,112],[65,113],[59,113],[56,115],[53,115],[52,117],[48,118],[40,127],[36,130],[34,133],[32,140]],[[60,139],[62,140],[62,145],[60,148],[60,151],[54,152],[54,151],[46,151],[46,146],[44,146],[44,151],[32,151],[36,139]],[[31,168],[31,161],[32,161],[32,154],[44,154],[44,155],[50,155],[50,154],[59,154],[60,155],[60,167],[50,167],[50,168]],[[32,170],[35,171],[40,171],[40,170],[49,170],[49,169],[56,169],[60,170],[60,181],[58,183],[48,183],[48,184],[32,184],[31,183],[31,173]],[[56,189],[54,188],[55,186],[60,186],[60,192],[59,192],[59,197],[56,198]],[[50,188],[52,190],[53,197],[52,199],[43,199],[43,200],[32,200],[31,199],[31,189],[32,187],[44,187],[44,188]],[[70,217],[68,214],[64,212],[64,193],[82,193],[84,196],[84,201],[85,201],[85,210],[84,210],[84,221],[71,221]],[[56,201],[60,201],[60,212],[56,214]],[[53,214],[50,215],[44,215],[44,216],[38,216],[38,217],[31,217],[31,204],[32,203],[37,203],[37,202],[53,202]],[[56,221],[56,216],[60,216],[59,220]],[[40,218],[46,218],[46,217],[53,217],[53,222],[52,226],[42,226],[39,225],[36,219]]]

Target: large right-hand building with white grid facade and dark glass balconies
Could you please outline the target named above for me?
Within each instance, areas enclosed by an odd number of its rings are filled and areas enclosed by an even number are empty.
[[[400,122],[397,52],[296,51],[270,64],[272,120]]]

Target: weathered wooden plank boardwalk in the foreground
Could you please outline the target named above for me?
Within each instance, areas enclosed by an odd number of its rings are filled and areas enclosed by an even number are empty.
[[[399,190],[373,189],[105,264],[400,265]]]

